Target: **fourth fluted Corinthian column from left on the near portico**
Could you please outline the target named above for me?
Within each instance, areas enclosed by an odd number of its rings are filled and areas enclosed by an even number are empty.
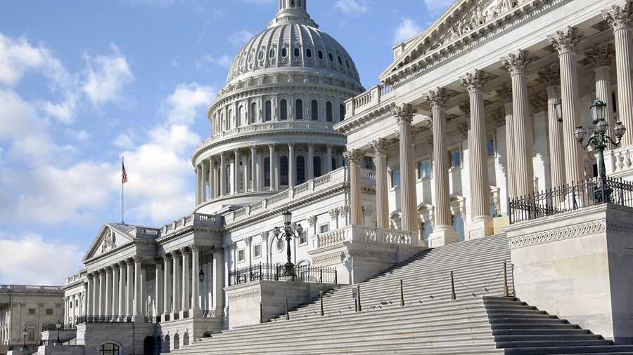
[[[437,88],[426,94],[433,111],[433,233],[428,239],[428,246],[436,248],[459,241],[451,219],[451,196],[449,189],[449,165],[446,147],[446,103],[444,88]]]

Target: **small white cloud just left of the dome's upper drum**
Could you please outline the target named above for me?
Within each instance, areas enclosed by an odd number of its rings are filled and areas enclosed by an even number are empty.
[[[170,123],[193,123],[196,112],[209,105],[215,96],[210,86],[198,83],[181,83],[167,98],[167,121]]]

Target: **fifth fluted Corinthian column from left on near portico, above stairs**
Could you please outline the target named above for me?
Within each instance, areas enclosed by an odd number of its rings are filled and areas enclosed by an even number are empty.
[[[485,152],[486,119],[484,112],[483,85],[487,74],[481,70],[468,73],[461,83],[471,99],[471,130],[468,146],[469,170],[471,173],[471,208],[473,220],[468,235],[471,239],[490,236],[493,233],[490,215],[490,185],[488,161]]]

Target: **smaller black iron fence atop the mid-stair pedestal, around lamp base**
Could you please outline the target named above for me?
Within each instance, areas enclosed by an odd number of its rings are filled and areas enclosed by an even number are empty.
[[[292,281],[309,283],[338,283],[336,269],[333,267],[295,266],[293,276],[284,276],[286,267],[283,264],[255,264],[229,272],[229,286],[251,281]]]

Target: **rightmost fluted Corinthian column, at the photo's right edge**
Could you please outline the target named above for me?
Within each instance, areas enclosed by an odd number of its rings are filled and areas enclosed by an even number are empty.
[[[623,145],[633,144],[633,83],[631,83],[631,17],[632,5],[629,1],[622,6],[613,6],[605,11],[603,18],[613,29],[615,36],[615,67],[618,77],[618,113],[620,122],[627,129]]]

